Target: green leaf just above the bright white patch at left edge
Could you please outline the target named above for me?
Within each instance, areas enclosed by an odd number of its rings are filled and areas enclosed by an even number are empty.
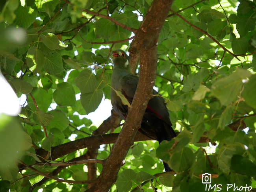
[[[20,78],[11,79],[10,83],[16,93],[21,92],[22,94],[29,94],[33,90],[30,83],[22,81]]]

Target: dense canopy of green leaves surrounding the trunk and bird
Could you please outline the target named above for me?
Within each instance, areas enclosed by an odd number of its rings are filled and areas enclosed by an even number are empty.
[[[0,1],[0,75],[27,97],[19,116],[0,114],[1,192],[84,192],[93,185],[87,179],[106,167],[80,161],[110,157],[120,119],[112,112],[96,127],[83,115],[110,99],[111,52],[139,41],[128,40],[155,1]],[[173,2],[158,37],[155,87],[180,133],[160,145],[137,134],[122,169],[111,170],[119,176],[110,178],[110,191],[204,191],[204,173],[214,176],[211,185],[256,188],[255,8],[249,0]],[[173,172],[161,173],[160,159]]]

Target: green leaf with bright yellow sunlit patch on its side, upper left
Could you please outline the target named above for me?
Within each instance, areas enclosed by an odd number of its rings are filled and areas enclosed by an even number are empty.
[[[37,47],[30,47],[26,58],[28,67],[35,73],[38,73],[45,65],[44,54]]]

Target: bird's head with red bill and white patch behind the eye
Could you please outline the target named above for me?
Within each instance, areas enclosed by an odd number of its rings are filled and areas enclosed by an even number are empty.
[[[129,66],[130,57],[121,49],[112,52],[114,66],[121,66],[127,68]]]

